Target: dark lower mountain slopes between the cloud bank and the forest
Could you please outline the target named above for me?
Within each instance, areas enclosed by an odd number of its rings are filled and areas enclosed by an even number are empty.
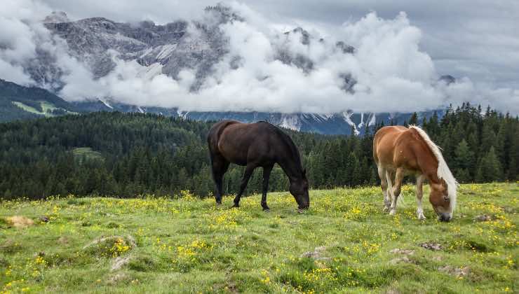
[[[88,102],[67,102],[48,90],[24,87],[0,80],[0,122],[60,116],[71,113],[96,111],[120,111],[123,113],[155,113],[161,116],[180,117],[189,120],[238,120],[254,123],[265,120],[291,130],[318,134],[363,134],[367,127],[384,121],[389,125],[409,120],[411,113],[265,113],[265,112],[183,112],[163,107],[144,107],[97,99]],[[441,116],[439,111],[438,115]],[[419,113],[419,119],[432,112]]]

